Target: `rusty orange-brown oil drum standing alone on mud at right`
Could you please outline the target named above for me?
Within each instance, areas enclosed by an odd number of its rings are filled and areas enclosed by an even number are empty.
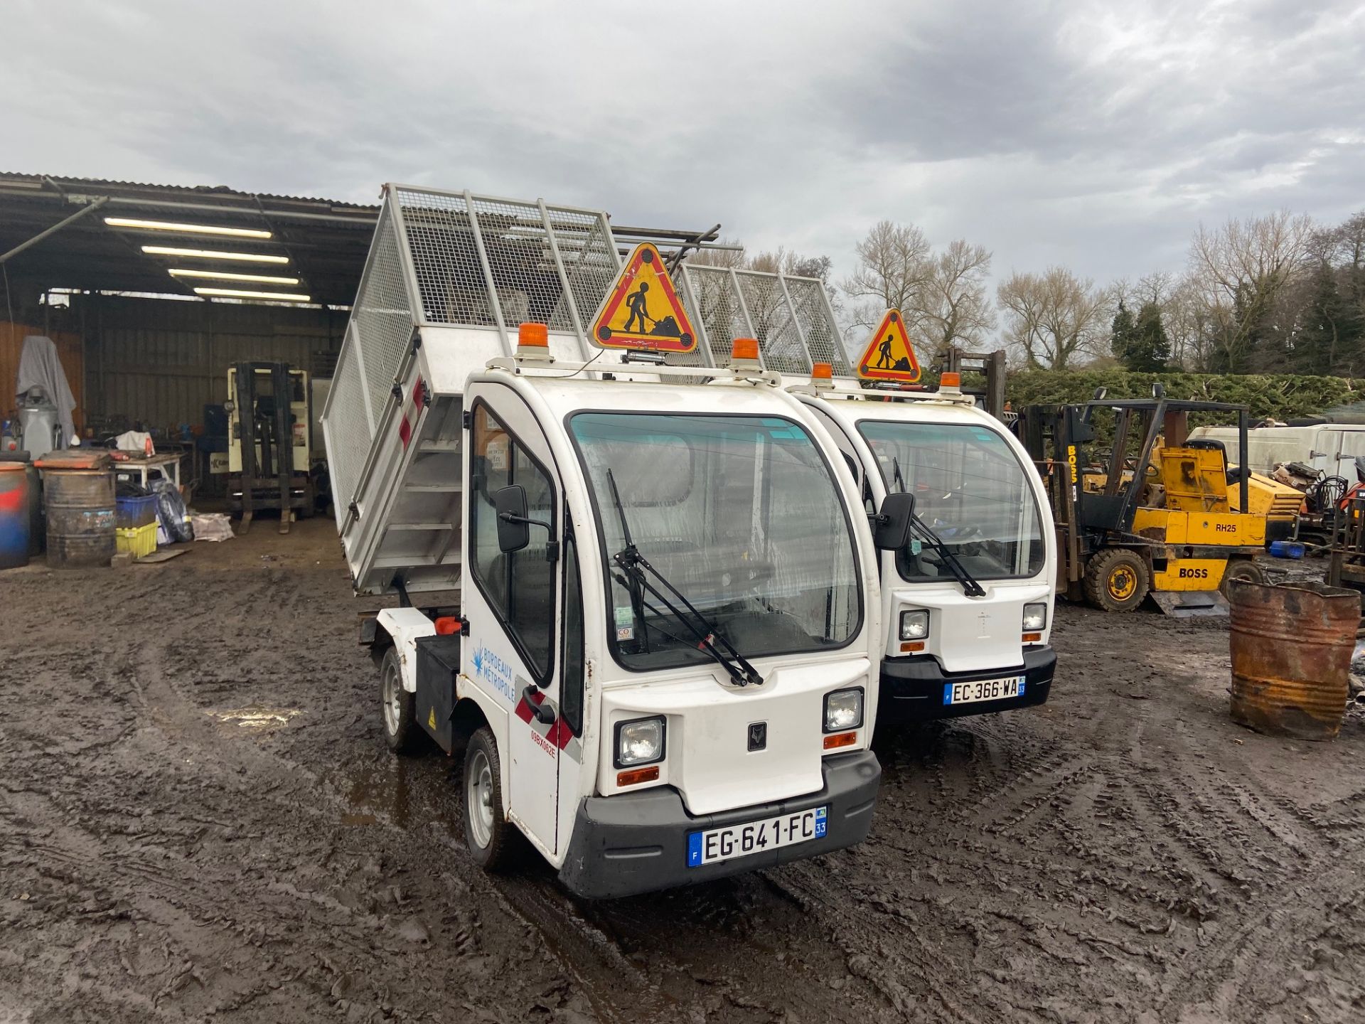
[[[1340,732],[1361,598],[1323,583],[1233,580],[1233,721],[1330,740]]]

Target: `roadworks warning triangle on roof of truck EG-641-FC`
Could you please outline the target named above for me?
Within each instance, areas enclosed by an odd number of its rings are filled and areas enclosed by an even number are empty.
[[[592,344],[601,348],[650,348],[691,352],[696,332],[669,279],[659,250],[635,247],[592,318]]]

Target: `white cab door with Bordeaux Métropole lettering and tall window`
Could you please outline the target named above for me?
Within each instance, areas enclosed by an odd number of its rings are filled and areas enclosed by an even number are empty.
[[[508,765],[508,814],[550,855],[558,849],[561,754],[562,487],[545,434],[509,388],[471,389],[470,517],[463,587],[471,646],[465,673],[509,710],[498,754]],[[498,542],[495,496],[526,493],[530,541]]]

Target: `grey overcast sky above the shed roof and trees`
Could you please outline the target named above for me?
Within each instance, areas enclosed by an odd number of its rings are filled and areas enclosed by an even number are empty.
[[[0,169],[605,208],[852,269],[879,218],[994,272],[1183,265],[1365,208],[1342,3],[4,0]]]

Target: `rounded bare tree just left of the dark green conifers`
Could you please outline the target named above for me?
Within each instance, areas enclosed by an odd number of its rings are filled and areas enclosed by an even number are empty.
[[[1066,370],[1104,351],[1108,291],[1063,266],[1011,273],[996,289],[1005,337],[1031,369]]]

